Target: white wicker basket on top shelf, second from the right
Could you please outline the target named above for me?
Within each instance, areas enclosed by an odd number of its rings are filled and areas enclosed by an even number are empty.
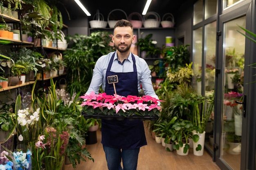
[[[155,19],[148,18],[148,16],[153,15]],[[161,22],[160,16],[156,12],[148,12],[143,16],[143,25],[145,28],[157,28]]]

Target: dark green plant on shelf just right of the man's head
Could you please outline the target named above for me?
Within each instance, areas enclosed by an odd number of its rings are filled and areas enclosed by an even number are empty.
[[[143,32],[141,33],[143,34]],[[140,54],[142,58],[146,58],[147,56],[158,58],[161,52],[161,49],[156,46],[157,42],[152,40],[153,34],[150,33],[146,35],[144,38],[139,38],[135,45],[139,46],[139,50],[141,53],[145,51],[144,54]]]

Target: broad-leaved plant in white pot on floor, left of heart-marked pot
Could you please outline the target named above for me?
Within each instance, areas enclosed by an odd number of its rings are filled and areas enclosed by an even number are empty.
[[[189,138],[194,142],[198,141],[198,135],[191,135],[193,130],[195,130],[195,126],[189,120],[177,119],[173,124],[171,139],[175,142],[173,149],[177,151],[178,155],[189,154]]]

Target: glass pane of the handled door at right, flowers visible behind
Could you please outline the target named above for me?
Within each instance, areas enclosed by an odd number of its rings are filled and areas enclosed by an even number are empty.
[[[238,33],[245,28],[245,16],[224,23],[224,78],[222,96],[221,157],[232,169],[240,170],[243,105],[243,74],[245,64],[245,36]]]

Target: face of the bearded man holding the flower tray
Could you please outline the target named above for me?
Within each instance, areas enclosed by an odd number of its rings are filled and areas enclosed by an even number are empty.
[[[126,27],[116,27],[114,30],[114,35],[112,36],[112,41],[115,47],[120,52],[126,52],[130,50],[130,46],[134,41],[135,36],[132,33],[132,29],[129,26]]]

